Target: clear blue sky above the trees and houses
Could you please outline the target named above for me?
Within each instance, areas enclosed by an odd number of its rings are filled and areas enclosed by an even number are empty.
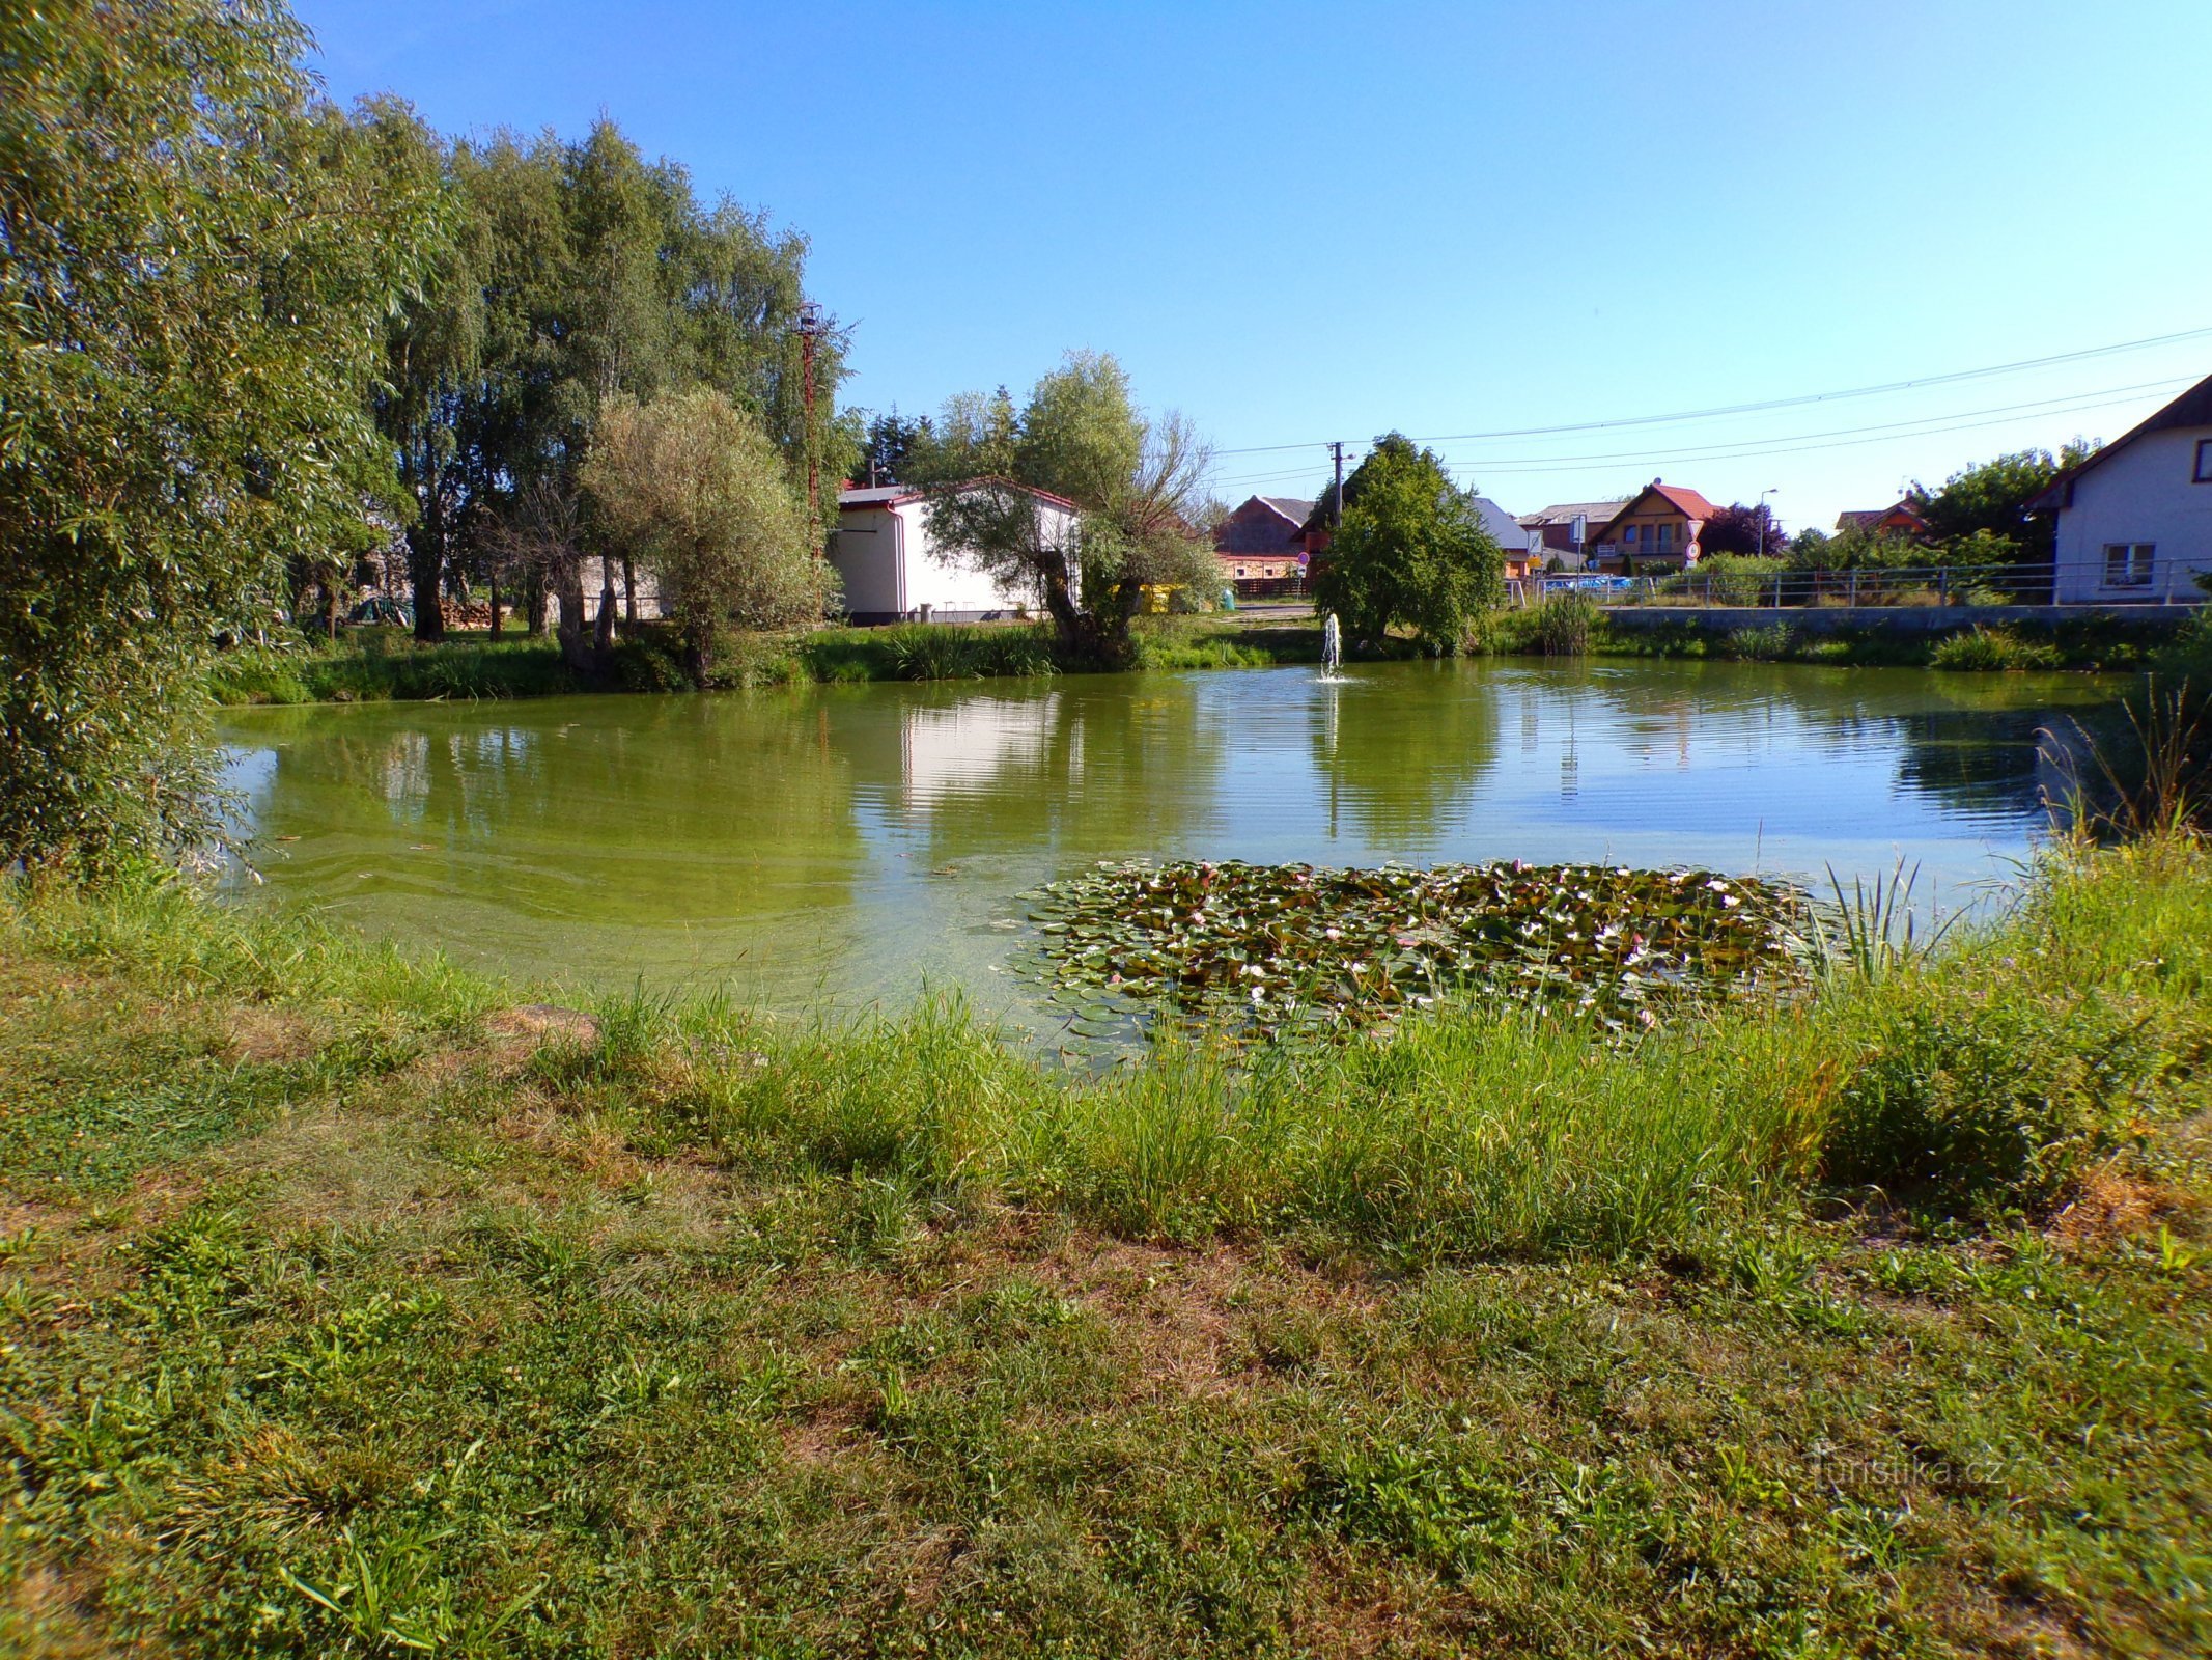
[[[1110,350],[1230,502],[1398,427],[1513,511],[1666,476],[1827,525],[2212,374],[2205,0],[299,11],[336,97],[604,111],[803,230],[845,401]]]

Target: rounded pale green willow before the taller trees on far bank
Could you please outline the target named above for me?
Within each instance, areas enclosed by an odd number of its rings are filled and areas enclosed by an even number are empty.
[[[723,631],[823,613],[834,573],[805,502],[759,418],[721,392],[611,398],[582,483],[606,529],[659,575],[695,679]]]

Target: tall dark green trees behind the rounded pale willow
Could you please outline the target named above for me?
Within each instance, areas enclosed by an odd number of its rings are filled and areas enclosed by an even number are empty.
[[[575,496],[611,398],[710,387],[770,434],[794,476],[810,458],[841,476],[856,443],[834,414],[845,334],[818,339],[810,425],[803,237],[730,201],[703,204],[681,166],[648,162],[606,120],[575,144],[502,133],[440,146],[403,111],[369,115],[400,128],[396,166],[414,170],[425,146],[438,148],[458,221],[438,281],[392,332],[380,405],[411,494],[418,635],[440,633],[445,591],[502,578],[531,591],[533,615],[535,595],[562,595],[573,633],[575,560],[518,549],[546,518],[546,489]],[[635,589],[624,549],[599,551]]]

